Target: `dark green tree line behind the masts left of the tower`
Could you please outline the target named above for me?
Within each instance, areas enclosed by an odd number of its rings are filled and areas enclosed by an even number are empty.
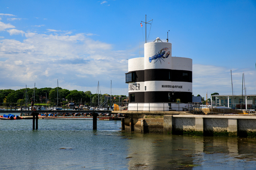
[[[58,90],[57,90],[58,88]],[[58,100],[57,100],[58,99]],[[100,100],[99,100],[100,99]],[[105,100],[108,100],[110,104],[110,99],[112,103],[121,103],[127,96],[125,95],[112,95],[112,98],[108,94],[92,94],[90,91],[77,91],[77,90],[67,90],[61,87],[56,88],[22,88],[19,90],[0,90],[0,104],[7,103],[30,103],[35,101],[35,103],[60,103],[66,104],[68,102],[74,102],[77,104],[87,104],[90,106],[98,106],[102,104]],[[100,103],[99,103],[100,101]]]

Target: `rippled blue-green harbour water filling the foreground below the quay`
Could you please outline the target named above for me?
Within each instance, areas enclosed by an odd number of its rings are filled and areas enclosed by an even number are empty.
[[[120,121],[0,120],[0,169],[256,169],[256,139],[141,134]]]

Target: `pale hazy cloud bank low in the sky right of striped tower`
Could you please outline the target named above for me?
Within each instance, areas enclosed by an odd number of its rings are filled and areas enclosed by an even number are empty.
[[[247,94],[255,94],[254,80],[256,72],[253,68],[233,69],[219,66],[193,64],[193,94],[206,96],[218,92],[222,95],[231,95],[231,72],[233,75],[234,94],[242,94],[242,74],[245,73]]]

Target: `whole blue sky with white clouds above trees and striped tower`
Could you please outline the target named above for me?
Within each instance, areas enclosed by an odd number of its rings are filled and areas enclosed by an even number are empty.
[[[156,37],[193,60],[193,94],[256,94],[256,1],[0,1],[0,89],[128,95],[128,60]],[[150,30],[150,32],[149,32]]]

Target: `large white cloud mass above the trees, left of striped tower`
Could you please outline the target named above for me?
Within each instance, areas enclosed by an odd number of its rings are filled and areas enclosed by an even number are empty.
[[[127,61],[126,54],[113,51],[111,44],[94,41],[85,34],[25,33],[23,42],[0,40],[0,56],[6,58],[0,62],[0,74],[5,75],[2,80],[19,86],[36,82],[40,87],[56,87],[56,79],[63,82],[62,88],[92,90],[93,93],[98,80],[110,84],[111,79],[113,82],[121,79],[125,86],[123,77],[128,66],[123,61]],[[103,93],[109,93],[109,86],[101,87],[106,90]],[[11,87],[0,83],[2,88]],[[126,86],[116,92],[128,94]]]

